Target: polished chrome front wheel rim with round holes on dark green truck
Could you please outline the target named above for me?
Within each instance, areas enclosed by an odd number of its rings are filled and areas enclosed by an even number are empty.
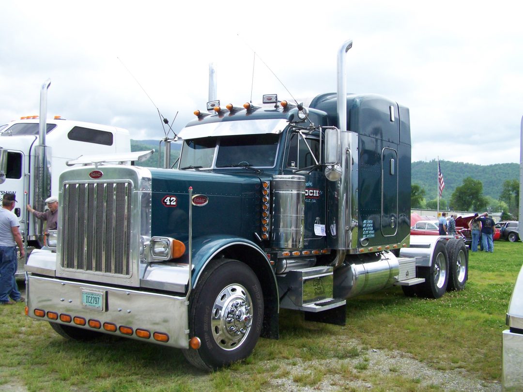
[[[241,284],[226,286],[216,297],[211,312],[214,341],[224,350],[237,349],[251,331],[251,295]]]

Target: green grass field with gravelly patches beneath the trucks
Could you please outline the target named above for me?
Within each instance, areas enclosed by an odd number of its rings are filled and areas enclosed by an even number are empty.
[[[314,390],[324,389],[326,379],[332,390],[446,390],[423,386],[399,365],[373,369],[370,355],[377,351],[433,370],[499,380],[501,332],[522,252],[523,243],[496,241],[493,254],[470,253],[465,290],[437,300],[405,297],[399,287],[351,299],[343,327],[281,310],[279,340],[260,339],[244,363],[211,374],[188,365],[179,351],[154,344],[113,337],[68,341],[47,322],[24,316],[23,304],[2,306],[0,390],[281,389],[274,380]]]

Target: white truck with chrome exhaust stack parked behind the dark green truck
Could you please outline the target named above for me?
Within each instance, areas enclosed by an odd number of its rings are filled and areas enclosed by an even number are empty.
[[[44,211],[45,200],[59,194],[59,177],[66,162],[86,154],[129,153],[129,131],[116,126],[47,118],[47,80],[40,92],[40,116],[10,121],[0,130],[0,196],[16,195],[13,212],[20,231],[31,248],[44,245],[44,223],[30,214],[26,205]],[[24,259],[18,275],[24,275]]]

